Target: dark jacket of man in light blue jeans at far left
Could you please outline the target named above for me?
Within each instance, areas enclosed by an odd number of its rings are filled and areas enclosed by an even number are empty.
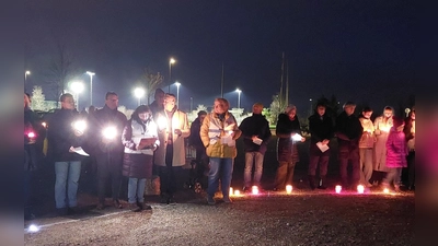
[[[54,162],[81,161],[83,157],[77,153],[69,152],[70,148],[81,147],[84,136],[74,134],[73,124],[81,120],[80,115],[70,109],[61,108],[57,110],[48,122],[47,155]]]

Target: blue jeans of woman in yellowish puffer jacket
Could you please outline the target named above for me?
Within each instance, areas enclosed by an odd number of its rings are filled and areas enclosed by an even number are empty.
[[[215,197],[219,186],[219,175],[223,198],[230,195],[231,178],[233,172],[233,159],[210,157],[210,171],[208,172],[208,197]]]

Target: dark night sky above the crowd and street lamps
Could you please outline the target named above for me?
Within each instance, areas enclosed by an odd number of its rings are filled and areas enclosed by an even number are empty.
[[[413,1],[27,1],[25,69],[44,84],[61,40],[80,72],[94,71],[93,101],[119,94],[136,107],[132,89],[148,67],[182,83],[180,106],[212,105],[220,95],[237,107],[265,106],[279,92],[281,52],[289,63],[290,103],[336,95],[380,114],[413,94]],[[88,75],[82,75],[89,82]],[[44,87],[48,98],[54,97]],[[176,94],[176,86],[171,86]],[[88,90],[80,104],[89,104]]]

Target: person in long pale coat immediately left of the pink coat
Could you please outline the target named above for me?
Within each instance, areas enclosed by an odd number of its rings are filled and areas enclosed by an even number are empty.
[[[383,108],[383,114],[374,119],[374,134],[377,137],[374,143],[374,163],[371,181],[373,185],[384,177],[387,168],[387,140],[392,127],[392,117],[394,109],[391,106]]]

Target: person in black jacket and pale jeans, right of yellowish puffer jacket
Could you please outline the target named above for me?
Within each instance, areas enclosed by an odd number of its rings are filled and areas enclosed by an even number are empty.
[[[270,139],[269,122],[262,115],[263,104],[253,105],[253,115],[243,119],[239,126],[242,131],[245,150],[245,169],[243,173],[243,191],[251,189],[251,173],[255,163],[253,186],[261,186],[263,174],[263,157],[266,153],[267,143]]]

